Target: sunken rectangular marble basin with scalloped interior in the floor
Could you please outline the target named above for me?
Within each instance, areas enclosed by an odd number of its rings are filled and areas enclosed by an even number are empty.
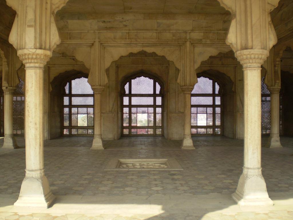
[[[175,158],[119,159],[112,158],[105,170],[183,170]]]

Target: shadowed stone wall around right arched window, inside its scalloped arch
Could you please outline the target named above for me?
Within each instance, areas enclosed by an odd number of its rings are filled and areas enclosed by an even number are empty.
[[[243,70],[233,51],[211,56],[196,70],[223,87],[223,135],[243,138]]]

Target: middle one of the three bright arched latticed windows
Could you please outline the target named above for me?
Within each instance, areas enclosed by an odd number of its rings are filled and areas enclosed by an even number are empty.
[[[122,135],[163,135],[163,89],[151,77],[135,77],[122,86]]]

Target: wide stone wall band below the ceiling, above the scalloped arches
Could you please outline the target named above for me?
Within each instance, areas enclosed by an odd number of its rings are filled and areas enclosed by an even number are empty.
[[[222,39],[230,14],[57,13],[62,40]]]

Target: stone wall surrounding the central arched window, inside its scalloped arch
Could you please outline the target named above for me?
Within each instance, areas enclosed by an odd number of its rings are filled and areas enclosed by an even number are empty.
[[[103,139],[120,138],[122,82],[139,73],[151,75],[163,82],[163,133],[168,139],[182,139],[183,93],[176,82],[179,70],[165,57],[145,51],[122,56],[112,62],[107,70],[109,82],[102,94],[101,106]]]

